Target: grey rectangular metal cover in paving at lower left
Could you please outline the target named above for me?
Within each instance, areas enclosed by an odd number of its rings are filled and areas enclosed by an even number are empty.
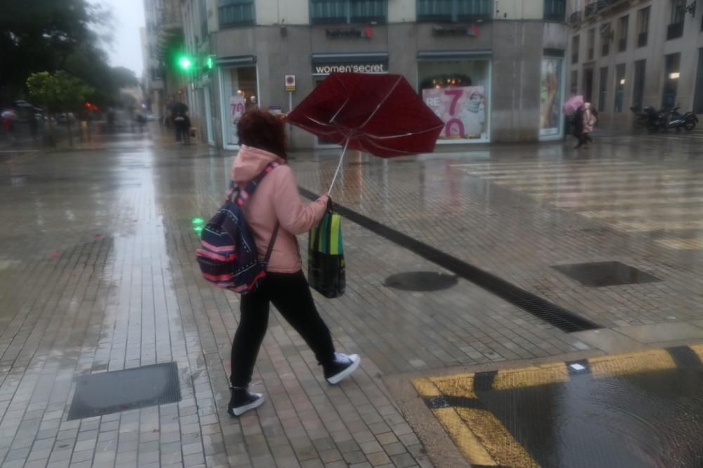
[[[181,401],[176,363],[76,377],[68,420]]]

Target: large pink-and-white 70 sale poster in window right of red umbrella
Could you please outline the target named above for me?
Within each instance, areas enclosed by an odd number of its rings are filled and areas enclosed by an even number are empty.
[[[423,89],[423,100],[444,122],[440,139],[485,139],[484,86]]]

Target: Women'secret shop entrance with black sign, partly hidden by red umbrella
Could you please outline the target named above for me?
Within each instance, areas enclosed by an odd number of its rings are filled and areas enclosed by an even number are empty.
[[[387,52],[365,53],[313,53],[313,86],[317,86],[331,73],[387,73]],[[323,138],[315,138],[315,148],[335,148],[338,145],[328,143]]]

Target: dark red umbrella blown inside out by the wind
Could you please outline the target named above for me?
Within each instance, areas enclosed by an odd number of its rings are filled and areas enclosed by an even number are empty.
[[[344,145],[342,158],[347,147],[380,157],[432,152],[444,128],[399,74],[330,74],[290,112],[288,122]]]

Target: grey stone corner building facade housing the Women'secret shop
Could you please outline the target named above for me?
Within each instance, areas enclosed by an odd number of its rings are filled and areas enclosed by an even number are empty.
[[[237,148],[241,112],[288,112],[335,71],[404,75],[446,122],[440,144],[565,131],[566,0],[182,0],[181,11],[198,63],[191,110],[221,148]],[[290,142],[327,146],[299,129]]]

